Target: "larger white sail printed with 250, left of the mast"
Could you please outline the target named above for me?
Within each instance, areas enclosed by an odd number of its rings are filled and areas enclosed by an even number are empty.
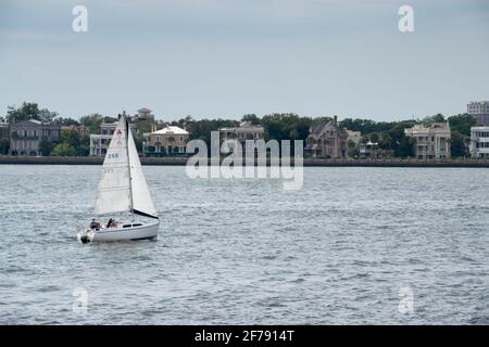
[[[127,123],[123,116],[112,137],[97,192],[96,215],[131,210]]]

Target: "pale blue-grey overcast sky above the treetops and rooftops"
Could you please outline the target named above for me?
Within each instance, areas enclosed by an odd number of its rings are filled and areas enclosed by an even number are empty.
[[[452,115],[489,100],[489,1],[0,0],[0,51],[1,115]]]

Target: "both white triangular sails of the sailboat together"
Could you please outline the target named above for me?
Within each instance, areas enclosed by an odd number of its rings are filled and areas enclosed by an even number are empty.
[[[158,218],[125,116],[121,116],[103,160],[96,215],[131,211]]]

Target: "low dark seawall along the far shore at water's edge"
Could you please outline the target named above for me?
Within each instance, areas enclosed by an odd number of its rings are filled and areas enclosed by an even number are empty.
[[[141,165],[185,166],[189,157],[140,157]],[[293,159],[291,160],[293,164]],[[0,156],[0,165],[102,165],[103,157],[93,156]],[[274,160],[274,165],[277,163]],[[269,159],[267,160],[269,165]],[[304,158],[304,167],[485,167],[489,159],[322,159]]]

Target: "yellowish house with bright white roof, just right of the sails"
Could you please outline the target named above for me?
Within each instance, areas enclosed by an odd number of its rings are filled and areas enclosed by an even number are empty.
[[[142,143],[145,155],[175,155],[185,154],[190,133],[179,127],[167,126],[156,130],[153,125],[147,141]]]

